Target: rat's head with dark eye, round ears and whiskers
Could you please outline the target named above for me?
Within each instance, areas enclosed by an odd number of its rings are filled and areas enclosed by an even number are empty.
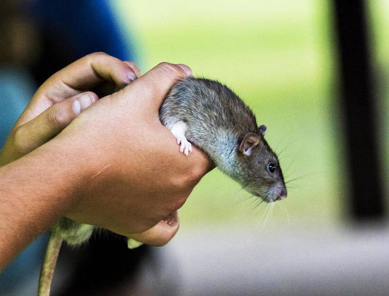
[[[266,202],[284,199],[287,195],[283,173],[277,156],[264,139],[266,126],[258,134],[248,133],[239,143],[239,181],[244,189]]]

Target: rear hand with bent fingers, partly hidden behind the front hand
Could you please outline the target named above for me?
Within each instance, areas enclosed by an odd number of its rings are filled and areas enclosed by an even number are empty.
[[[0,153],[0,166],[52,139],[96,102],[102,90],[122,88],[139,76],[134,63],[102,52],[88,54],[56,72],[38,88],[13,127]]]

